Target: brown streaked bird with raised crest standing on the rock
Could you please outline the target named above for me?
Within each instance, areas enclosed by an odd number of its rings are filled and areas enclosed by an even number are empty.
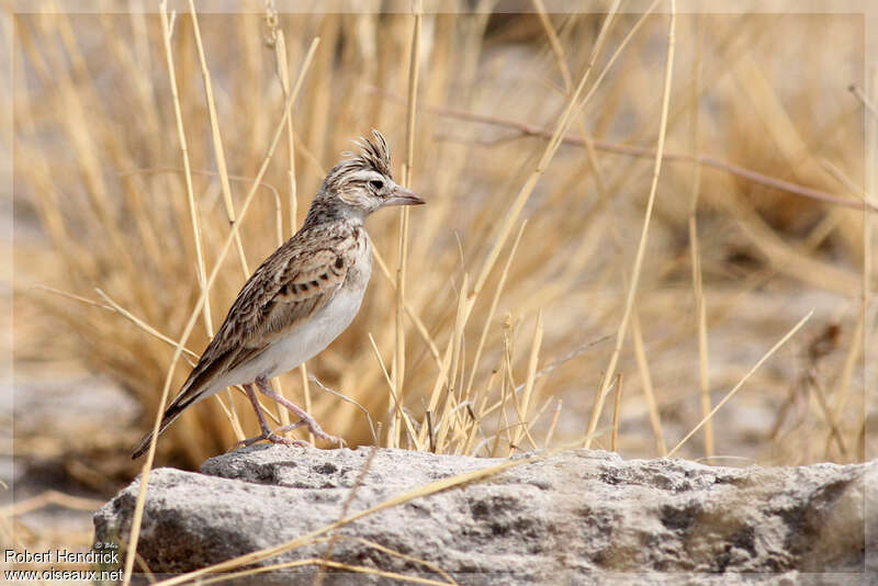
[[[302,227],[269,256],[241,288],[207,348],[165,410],[161,435],[187,408],[232,385],[241,385],[259,420],[260,440],[303,444],[281,433],[307,426],[324,440],[341,440],[324,431],[304,409],[277,393],[270,380],[322,352],[345,331],[360,309],[372,273],[372,249],[364,221],[394,205],[426,203],[398,185],[391,172],[387,142],[376,129],[353,144],[329,170],[311,203]],[[289,409],[299,421],[272,431],[254,385]],[[153,440],[147,433],[132,459]]]

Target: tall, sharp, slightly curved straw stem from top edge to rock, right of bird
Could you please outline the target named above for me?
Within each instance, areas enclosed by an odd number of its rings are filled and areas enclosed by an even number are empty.
[[[616,373],[616,365],[619,361],[619,354],[622,350],[622,342],[624,341],[626,333],[628,331],[628,320],[631,316],[631,309],[634,305],[634,296],[637,295],[638,284],[640,282],[640,271],[643,267],[643,257],[646,251],[646,239],[649,237],[649,229],[650,229],[650,221],[652,218],[652,210],[655,205],[655,192],[658,188],[658,174],[662,170],[662,153],[664,151],[665,147],[665,133],[667,132],[667,109],[671,102],[671,76],[674,68],[674,27],[676,24],[676,1],[671,0],[671,14],[669,14],[669,24],[667,31],[667,57],[665,60],[665,79],[664,79],[664,90],[662,92],[662,114],[658,121],[658,145],[655,149],[655,164],[653,167],[652,172],[652,184],[650,185],[650,195],[649,200],[646,201],[646,212],[643,218],[643,227],[641,228],[640,233],[640,243],[638,244],[638,251],[634,257],[634,267],[631,271],[631,283],[628,289],[628,294],[626,297],[624,311],[622,313],[622,318],[619,323],[619,329],[617,330],[616,335],[616,347],[612,350],[612,354],[610,357],[609,365],[607,367],[607,371],[604,374],[604,382],[598,390],[597,396],[595,397],[595,406],[592,409],[592,415],[588,420],[588,428],[586,430],[586,440],[585,440],[585,448],[587,449],[592,444],[592,433],[595,432],[597,429],[597,424],[600,418],[600,413],[604,410],[604,399],[606,397],[606,393],[609,390],[610,381],[615,376]]]

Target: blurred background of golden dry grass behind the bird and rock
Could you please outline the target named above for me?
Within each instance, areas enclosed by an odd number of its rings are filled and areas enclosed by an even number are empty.
[[[408,2],[371,5],[254,2],[195,23],[175,1],[165,25],[137,2],[91,13],[43,2],[3,19],[14,76],[4,537],[32,550],[90,543],[90,511],[143,465],[131,449],[153,425],[203,275],[221,264],[185,342],[195,356],[371,128],[397,179],[413,131],[408,184],[428,205],[410,210],[403,238],[397,211],[369,219],[380,258],[359,316],[306,374],[275,381],[350,447],[506,457],[584,439],[592,421],[589,447],[623,458],[865,459],[876,351],[863,342],[876,319],[864,291],[878,255],[864,226],[876,97],[862,14],[676,16],[665,158],[627,311],[667,5],[644,15],[622,2],[609,21],[611,2],[594,13],[427,3],[420,19]],[[534,176],[586,71],[587,101]],[[300,76],[292,123],[240,219]],[[221,259],[230,219],[240,237]],[[246,397],[221,393],[161,437],[156,465],[196,470],[256,430]]]

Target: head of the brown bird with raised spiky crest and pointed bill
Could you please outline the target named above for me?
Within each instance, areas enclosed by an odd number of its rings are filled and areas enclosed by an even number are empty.
[[[373,129],[371,139],[360,138],[354,144],[360,153],[344,154],[347,158],[326,176],[314,204],[319,207],[331,206],[344,215],[364,218],[381,207],[425,203],[417,193],[394,182],[391,153],[380,132]]]

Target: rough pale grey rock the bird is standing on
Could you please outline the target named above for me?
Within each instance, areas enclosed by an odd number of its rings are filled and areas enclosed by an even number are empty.
[[[201,474],[155,470],[138,552],[153,572],[188,572],[502,462],[379,450],[358,486],[369,455],[254,446],[207,460]],[[362,517],[337,531],[331,560],[443,581],[438,567],[461,584],[629,584],[618,573],[644,572],[654,584],[878,584],[878,554],[866,572],[867,536],[878,549],[877,481],[878,461],[731,469],[566,451]],[[124,542],[138,484],[94,515],[98,541]],[[326,551],[323,541],[259,564]],[[258,583],[311,584],[315,572]],[[324,584],[386,582],[333,572]]]

